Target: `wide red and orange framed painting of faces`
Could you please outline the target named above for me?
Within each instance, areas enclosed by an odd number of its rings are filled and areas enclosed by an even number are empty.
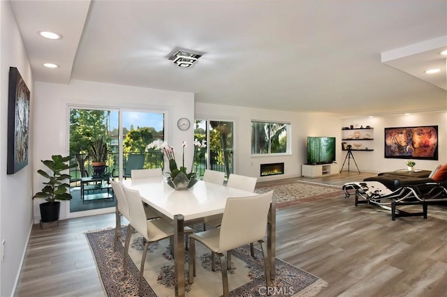
[[[385,128],[385,158],[438,160],[438,126]]]

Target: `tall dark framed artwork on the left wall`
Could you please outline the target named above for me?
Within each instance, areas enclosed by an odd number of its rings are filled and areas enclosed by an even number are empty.
[[[15,67],[9,68],[7,174],[28,165],[30,92]]]

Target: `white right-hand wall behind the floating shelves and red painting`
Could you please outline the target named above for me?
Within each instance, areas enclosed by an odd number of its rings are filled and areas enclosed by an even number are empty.
[[[380,116],[374,118],[353,118],[343,119],[342,127],[354,127],[370,125],[374,128],[374,140],[371,142],[361,142],[368,148],[374,148],[374,151],[353,151],[360,172],[387,172],[395,169],[404,169],[406,159],[391,159],[384,157],[385,128],[394,127],[413,127],[418,125],[438,125],[438,153],[439,160],[415,160],[416,169],[432,170],[439,164],[447,163],[447,112],[430,112],[420,114],[410,114],[408,116]],[[366,131],[361,131],[366,132]],[[360,138],[362,136],[360,135]],[[344,166],[347,170],[347,165]],[[350,171],[356,171],[356,166],[352,164]]]

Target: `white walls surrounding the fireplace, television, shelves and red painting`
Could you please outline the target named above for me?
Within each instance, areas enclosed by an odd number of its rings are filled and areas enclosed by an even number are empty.
[[[384,128],[438,125],[439,126],[439,160],[416,160],[416,168],[431,170],[439,164],[447,163],[447,112],[412,114],[409,116],[381,116],[374,118],[339,119],[337,116],[320,113],[296,113],[265,110],[248,107],[232,107],[196,102],[196,119],[228,120],[235,122],[235,173],[255,176],[258,181],[289,178],[301,175],[301,166],[307,160],[307,136],[337,137],[337,164],[342,169],[346,151],[342,151],[342,128],[354,125],[372,128],[374,140],[362,142],[363,148],[374,151],[353,151],[360,172],[386,172],[405,168],[404,160],[384,158]],[[251,156],[251,120],[286,121],[292,126],[292,153],[277,157]],[[366,133],[366,130],[360,132]],[[263,163],[284,162],[284,175],[260,177],[260,165]],[[346,161],[343,170],[348,169]],[[356,172],[356,165],[351,160],[351,172]]]

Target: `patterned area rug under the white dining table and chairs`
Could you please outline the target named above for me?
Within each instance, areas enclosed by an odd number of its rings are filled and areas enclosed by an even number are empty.
[[[122,228],[122,241],[127,227]],[[129,248],[128,273],[123,273],[123,242],[113,248],[115,229],[87,233],[91,252],[96,260],[99,278],[105,294],[110,297],[138,296],[138,277],[142,256],[142,237],[133,234]],[[228,271],[230,296],[263,296],[265,288],[264,266],[261,251],[249,254],[249,246],[233,251],[231,269]],[[196,273],[193,284],[186,285],[186,296],[221,296],[222,282],[219,258],[217,271],[211,271],[210,250],[196,242]],[[185,279],[188,280],[188,253],[185,254]],[[270,293],[274,296],[316,296],[328,283],[280,259],[276,259],[276,278]],[[149,245],[145,264],[142,296],[174,296],[174,260],[169,253],[169,240]],[[187,282],[187,281],[186,281]]]

